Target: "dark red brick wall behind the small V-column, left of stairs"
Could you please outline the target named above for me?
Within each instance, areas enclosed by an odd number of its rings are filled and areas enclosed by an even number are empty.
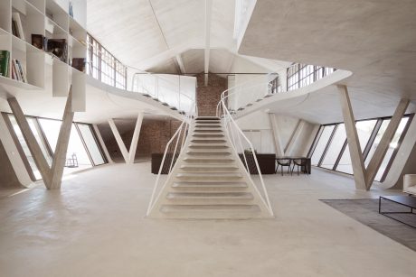
[[[117,125],[117,121],[115,121],[115,123]],[[125,123],[123,126],[124,132],[120,132],[120,135],[128,149],[130,148],[135,125],[135,121],[131,121],[131,123],[127,124]],[[152,153],[165,152],[166,144],[169,142],[172,135],[175,134],[179,125],[181,125],[181,122],[175,119],[157,120],[144,118],[138,138],[136,158],[148,159]],[[118,144],[109,128],[109,125],[101,124],[98,126],[103,141],[109,150],[111,159],[115,162],[123,162],[123,156],[121,155]]]

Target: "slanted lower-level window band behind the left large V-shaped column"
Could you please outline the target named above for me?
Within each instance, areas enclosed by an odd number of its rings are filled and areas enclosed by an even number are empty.
[[[18,142],[18,146],[20,146],[21,150],[19,151],[22,152],[25,158],[24,162],[33,180],[42,179],[41,173],[34,162],[32,153],[24,140],[24,135],[19,125],[17,125],[14,115],[6,116],[11,126],[10,131],[14,134],[14,139]],[[51,166],[61,129],[61,121],[32,116],[26,116],[26,119],[36,142],[41,147],[46,161]],[[71,126],[71,136],[68,144],[64,173],[88,169],[103,163],[106,163],[106,160],[91,126],[73,123]]]

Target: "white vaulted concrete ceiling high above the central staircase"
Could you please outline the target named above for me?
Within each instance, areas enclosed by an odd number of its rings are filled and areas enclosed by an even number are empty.
[[[124,0],[117,5],[113,0],[89,0],[87,29],[128,66],[156,73],[199,73],[204,69],[207,41],[205,1],[212,1],[209,71],[230,72],[237,55],[235,0]],[[267,71],[288,64],[270,68],[279,61],[257,63]]]

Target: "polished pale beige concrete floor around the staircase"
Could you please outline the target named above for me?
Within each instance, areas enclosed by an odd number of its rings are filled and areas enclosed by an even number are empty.
[[[1,198],[0,276],[416,276],[415,252],[318,200],[380,194],[352,179],[265,175],[274,219],[164,220],[144,218],[149,172],[101,166]]]

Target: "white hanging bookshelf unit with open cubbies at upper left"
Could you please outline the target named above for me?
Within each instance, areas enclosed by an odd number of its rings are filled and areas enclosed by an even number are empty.
[[[70,3],[73,16],[70,15]],[[67,97],[72,85],[72,110],[85,111],[86,76],[71,67],[74,58],[87,56],[87,0],[2,0],[0,5],[0,51],[10,52],[9,76],[0,83],[27,90],[43,90],[52,82],[53,97]],[[12,18],[18,13],[24,36],[14,36]],[[65,59],[32,45],[32,34],[67,42]],[[12,60],[26,71],[27,82],[12,78]],[[52,72],[48,74],[47,72]],[[75,89],[76,88],[76,89]]]

